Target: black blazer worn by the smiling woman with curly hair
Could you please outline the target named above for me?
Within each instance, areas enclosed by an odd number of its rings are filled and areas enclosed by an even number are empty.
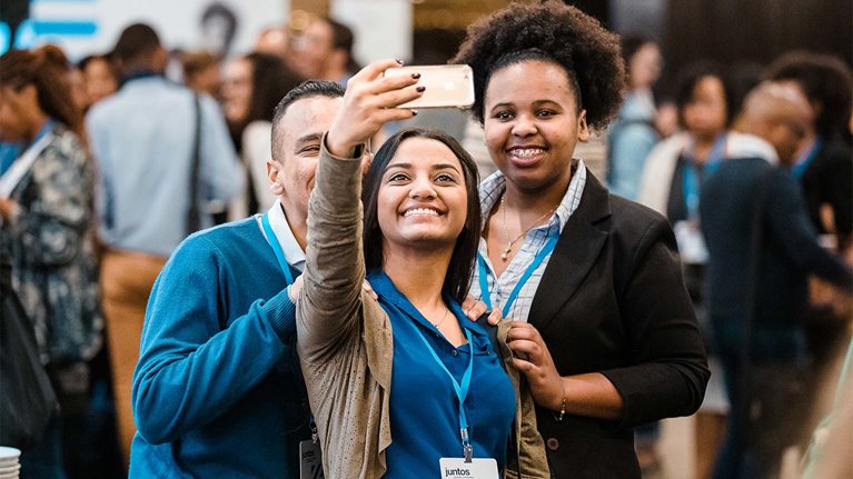
[[[624,400],[618,422],[537,409],[556,478],[639,478],[633,427],[698,409],[711,372],[664,217],[587,173],[528,321],[561,376],[602,372]]]

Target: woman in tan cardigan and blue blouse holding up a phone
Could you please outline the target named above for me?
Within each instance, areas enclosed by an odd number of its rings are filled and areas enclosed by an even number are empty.
[[[363,146],[385,122],[411,118],[395,107],[424,91],[416,74],[381,76],[396,66],[349,80],[319,147],[304,286],[290,291],[326,477],[507,468],[547,478],[532,398],[516,392],[517,371],[510,381],[502,370],[509,350],[459,307],[480,221],[468,153],[435,131],[391,137],[364,180],[363,227]],[[363,292],[365,278],[378,300]]]

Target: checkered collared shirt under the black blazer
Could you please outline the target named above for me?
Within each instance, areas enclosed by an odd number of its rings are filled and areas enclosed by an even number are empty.
[[[487,268],[486,276],[493,309],[503,309],[504,302],[513,292],[522,276],[524,276],[526,269],[533,263],[536,255],[548,242],[548,238],[554,234],[555,231],[563,232],[563,228],[566,226],[566,222],[568,222],[568,218],[575,212],[577,206],[581,204],[581,196],[584,193],[584,186],[586,184],[586,166],[584,166],[582,160],[577,160],[575,168],[576,170],[574,174],[572,174],[572,180],[568,183],[566,194],[563,196],[563,200],[559,202],[556,211],[554,211],[554,214],[547,223],[527,231],[520,249],[513,257],[512,261],[509,261],[506,270],[504,270],[500,277],[497,278],[497,283],[495,283],[495,269],[488,258],[488,246],[486,245],[485,239],[479,239],[479,255],[485,260]],[[484,228],[487,224],[489,211],[492,211],[495,204],[500,200],[500,196],[504,194],[505,190],[506,178],[499,171],[484,180],[480,184],[479,197]],[[545,272],[549,259],[551,255],[545,257],[536,270],[533,271],[533,275],[530,275],[527,282],[522,287],[520,291],[518,291],[518,296],[506,315],[507,317],[515,320],[527,321],[527,315],[530,312],[533,297],[536,295],[536,289],[539,287],[542,275]],[[479,268],[475,267],[474,272],[470,296],[482,299]]]

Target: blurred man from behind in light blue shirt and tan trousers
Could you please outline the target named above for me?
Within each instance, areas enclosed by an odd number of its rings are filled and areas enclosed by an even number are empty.
[[[178,243],[212,224],[206,204],[229,201],[244,176],[216,101],[163,78],[167,52],[151,27],[127,27],[113,58],[122,87],[92,107],[87,127],[99,172],[102,307],[127,465],[136,430],[130,386],[148,295]],[[198,198],[188,194],[194,183]]]

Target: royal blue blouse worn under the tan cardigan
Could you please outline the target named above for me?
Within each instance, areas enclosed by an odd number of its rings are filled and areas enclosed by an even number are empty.
[[[387,449],[385,479],[438,477],[438,460],[463,457],[459,407],[450,378],[435,361],[418,335],[429,341],[447,370],[462,383],[472,348],[474,366],[465,400],[475,458],[493,458],[506,466],[506,448],[515,418],[515,390],[500,366],[488,335],[466,319],[459,305],[445,298],[472,345],[454,348],[406,299],[381,271],[367,280],[379,296],[394,331],[394,369],[390,391],[391,445]]]

